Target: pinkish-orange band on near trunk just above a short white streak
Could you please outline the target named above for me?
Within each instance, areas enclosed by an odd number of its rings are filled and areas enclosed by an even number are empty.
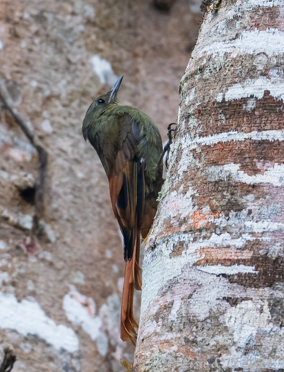
[[[200,248],[200,255],[204,255],[203,258],[196,263],[197,266],[203,266],[210,263],[218,263],[219,261],[225,260],[247,260],[252,257],[254,251],[252,250],[239,250],[232,247],[204,247]],[[217,262],[216,262],[217,261]]]

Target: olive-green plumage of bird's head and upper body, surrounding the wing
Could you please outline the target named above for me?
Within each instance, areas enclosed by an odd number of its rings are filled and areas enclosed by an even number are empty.
[[[112,171],[117,153],[117,138],[123,130],[123,118],[129,116],[139,123],[142,140],[137,146],[138,158],[145,163],[145,176],[149,181],[155,182],[157,166],[162,153],[162,140],[159,129],[151,118],[142,111],[131,106],[119,105],[117,99],[107,102],[109,93],[98,97],[88,108],[82,127],[85,140],[97,151],[107,176]],[[103,99],[106,103],[98,105],[97,101]],[[160,171],[162,167],[160,166]],[[151,185],[153,186],[153,185]]]

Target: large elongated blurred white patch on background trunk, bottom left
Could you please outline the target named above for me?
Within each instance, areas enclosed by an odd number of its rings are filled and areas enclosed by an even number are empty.
[[[0,292],[0,327],[28,336],[34,334],[59,350],[78,350],[79,341],[74,330],[47,317],[37,302],[23,299],[18,302],[12,294]]]

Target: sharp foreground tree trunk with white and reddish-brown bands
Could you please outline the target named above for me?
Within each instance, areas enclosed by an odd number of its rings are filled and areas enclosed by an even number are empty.
[[[284,3],[216,7],[180,84],[137,372],[284,368]]]

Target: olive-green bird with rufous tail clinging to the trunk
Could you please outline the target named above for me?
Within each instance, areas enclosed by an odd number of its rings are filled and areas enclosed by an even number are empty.
[[[161,190],[162,139],[151,118],[132,106],[120,105],[117,92],[123,75],[106,94],[93,101],[82,134],[94,147],[109,180],[112,209],[123,235],[125,277],[122,291],[120,338],[137,337],[133,315],[134,289],[141,290],[141,236],[153,224]]]

